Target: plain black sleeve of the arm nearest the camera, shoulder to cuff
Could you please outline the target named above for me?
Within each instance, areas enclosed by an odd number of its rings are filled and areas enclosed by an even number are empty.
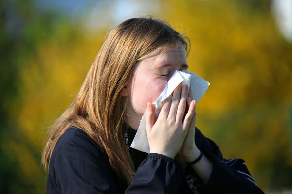
[[[178,191],[180,182],[180,164],[164,155],[149,154],[126,192],[121,191],[107,156],[84,132],[70,128],[53,151],[47,194],[163,194]]]

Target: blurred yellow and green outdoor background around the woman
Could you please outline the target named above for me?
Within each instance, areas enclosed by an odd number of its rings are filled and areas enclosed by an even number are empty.
[[[197,127],[266,193],[292,193],[292,0],[1,0],[1,193],[45,193],[48,128],[107,32],[147,15],[190,38],[190,70],[211,83]]]

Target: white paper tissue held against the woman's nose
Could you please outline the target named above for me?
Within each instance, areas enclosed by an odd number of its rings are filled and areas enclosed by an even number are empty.
[[[162,101],[169,97],[171,93],[174,91],[174,89],[181,83],[186,84],[191,89],[191,98],[195,99],[197,102],[201,99],[201,97],[204,95],[206,90],[208,89],[210,83],[208,81],[205,81],[200,76],[197,76],[196,74],[190,72],[190,71],[175,71],[174,74],[171,76],[170,80],[167,82],[164,90],[160,94],[160,96],[157,98],[154,104],[156,115],[159,114]],[[131,144],[131,147],[134,149],[138,149],[143,152],[150,152],[150,147],[148,144],[148,138],[147,138],[147,131],[146,131],[146,111],[142,116],[142,119],[140,121],[140,125],[138,128],[138,131],[135,135],[135,138]]]

